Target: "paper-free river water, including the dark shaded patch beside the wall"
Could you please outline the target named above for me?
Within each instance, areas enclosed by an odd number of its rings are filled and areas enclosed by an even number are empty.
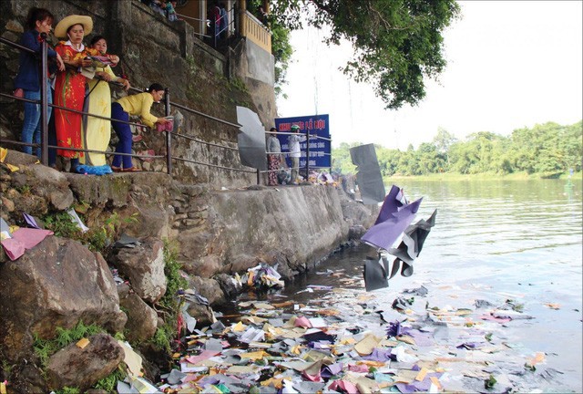
[[[420,285],[428,289],[432,306],[476,309],[476,299],[495,305],[511,299],[533,318],[513,320],[496,334],[513,347],[509,357],[522,366],[522,360],[544,353],[538,370],[547,368],[554,379],[543,390],[583,392],[581,183],[572,188],[559,180],[395,183],[410,201],[424,197],[416,219],[435,209],[438,213],[414,262],[414,275],[395,276],[388,288],[369,293],[378,305],[390,307],[405,289]],[[281,296],[309,302],[312,295],[302,291],[306,285],[363,290],[363,259],[373,253],[360,245],[332,254],[287,285]],[[353,281],[321,275],[327,270]],[[521,388],[540,386],[538,381]],[[471,385],[458,389],[477,390]]]

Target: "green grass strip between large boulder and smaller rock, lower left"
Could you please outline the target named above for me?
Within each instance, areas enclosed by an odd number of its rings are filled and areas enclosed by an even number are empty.
[[[96,325],[85,326],[83,321],[79,320],[77,326],[71,329],[56,327],[56,336],[52,339],[42,339],[35,334],[33,349],[43,368],[46,368],[48,358],[54,355],[58,350],[67,347],[73,342],[77,342],[81,338],[91,337],[100,332],[105,332],[105,330]]]

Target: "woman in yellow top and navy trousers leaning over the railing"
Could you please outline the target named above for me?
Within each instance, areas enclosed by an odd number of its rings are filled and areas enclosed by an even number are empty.
[[[164,97],[164,88],[158,83],[152,84],[144,93],[126,96],[118,99],[111,105],[111,119],[129,121],[129,115],[139,116],[141,121],[148,127],[154,127],[155,123],[166,124],[170,120],[157,118],[149,110],[154,102],[159,102]],[[116,152],[131,153],[131,129],[128,123],[113,121],[113,130],[118,134],[119,142]],[[123,166],[122,166],[123,164]],[[111,163],[111,170],[119,171],[139,171],[134,167],[131,156],[115,155]]]

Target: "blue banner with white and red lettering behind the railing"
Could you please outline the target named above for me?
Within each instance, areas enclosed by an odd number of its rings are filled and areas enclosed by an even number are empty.
[[[310,139],[310,167],[331,167],[332,158],[330,153],[332,151],[332,141],[330,140],[330,122],[328,115],[312,115],[294,118],[278,118],[275,119],[275,129],[278,132],[291,132],[292,125],[300,126],[300,134],[306,135],[306,131],[311,136],[323,137],[326,140],[312,137]],[[288,135],[278,135],[280,140],[281,151],[289,152]],[[300,169],[306,166],[306,150],[308,148],[308,141],[300,143],[302,156],[300,157]],[[289,158],[286,157],[288,165],[290,165]]]

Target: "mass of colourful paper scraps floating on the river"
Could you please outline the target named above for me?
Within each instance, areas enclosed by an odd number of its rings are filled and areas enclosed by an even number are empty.
[[[354,279],[344,276],[343,282]],[[176,368],[162,375],[156,389],[533,392],[560,378],[553,368],[538,371],[546,363],[544,353],[507,341],[505,327],[531,318],[513,300],[434,306],[425,286],[404,290],[392,305],[380,305],[381,292],[360,288],[308,285],[302,292],[310,293],[304,304],[278,294],[244,300],[237,318],[219,316],[211,326],[195,327],[174,355]]]

